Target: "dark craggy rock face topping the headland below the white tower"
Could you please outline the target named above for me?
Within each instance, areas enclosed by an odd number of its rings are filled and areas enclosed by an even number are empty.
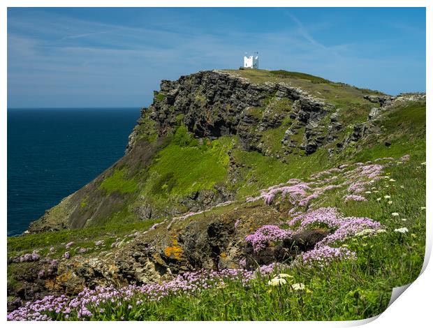
[[[244,149],[266,154],[259,146],[263,131],[281,126],[291,115],[295,119],[293,129],[311,126],[304,141],[307,154],[311,154],[317,148],[313,144],[323,144],[323,137],[318,137],[321,133],[313,131],[314,124],[323,119],[329,108],[288,84],[252,84],[228,73],[203,71],[177,81],[163,80],[161,91],[155,91],[154,103],[142,111],[142,118],[154,120],[159,135],[182,123],[195,137],[239,135]],[[127,151],[133,149],[139,130],[140,124],[129,137]]]

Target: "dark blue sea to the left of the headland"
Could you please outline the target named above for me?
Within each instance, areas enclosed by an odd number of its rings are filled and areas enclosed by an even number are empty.
[[[8,110],[8,235],[124,154],[138,108]]]

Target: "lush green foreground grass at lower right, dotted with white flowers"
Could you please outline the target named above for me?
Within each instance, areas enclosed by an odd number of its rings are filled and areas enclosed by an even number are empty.
[[[344,244],[358,255],[355,261],[332,262],[325,267],[290,269],[287,285],[271,287],[268,277],[245,288],[227,281],[225,288],[210,288],[192,295],[175,294],[161,301],[122,302],[100,306],[94,320],[358,320],[377,315],[388,304],[393,287],[412,282],[419,274],[425,252],[425,166],[423,149],[412,152],[409,163],[392,165],[366,195],[368,202],[342,202],[342,195],[327,194],[321,206],[336,206],[345,216],[374,218],[387,232],[356,237]],[[402,186],[404,188],[402,188]],[[390,195],[388,204],[384,195]],[[376,201],[380,197],[381,201]],[[221,209],[219,209],[221,210]],[[399,213],[398,217],[392,216]],[[394,232],[406,227],[407,234]],[[339,246],[338,244],[336,246]],[[307,290],[294,291],[291,283]],[[131,305],[131,308],[128,306]],[[55,315],[53,318],[56,318]],[[71,319],[74,319],[74,315]],[[61,318],[57,318],[61,319]]]

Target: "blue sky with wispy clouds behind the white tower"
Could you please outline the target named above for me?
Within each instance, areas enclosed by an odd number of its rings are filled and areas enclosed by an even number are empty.
[[[8,107],[140,107],[163,79],[239,68],[425,91],[425,8],[8,8]]]

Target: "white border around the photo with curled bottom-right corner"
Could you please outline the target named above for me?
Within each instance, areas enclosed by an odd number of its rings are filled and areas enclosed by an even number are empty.
[[[170,1],[170,0],[151,0],[151,1],[139,1],[139,0],[105,0],[105,1],[95,1],[95,0],[64,0],[59,2],[59,0],[39,0],[29,1],[29,0],[6,0],[2,1],[2,6],[0,9],[0,24],[1,24],[1,45],[3,45],[1,50],[1,80],[0,80],[0,101],[2,104],[0,113],[0,149],[2,159],[1,159],[1,181],[2,188],[0,188],[0,207],[1,207],[1,218],[2,221],[2,234],[1,234],[1,249],[6,250],[6,179],[7,179],[7,142],[6,142],[6,121],[7,121],[7,7],[426,7],[426,23],[427,23],[427,33],[426,33],[426,46],[427,46],[427,56],[426,56],[426,68],[427,80],[426,80],[426,91],[427,91],[427,125],[430,126],[432,123],[432,106],[430,105],[430,94],[432,92],[432,22],[433,22],[433,1],[427,0],[352,0],[350,3],[346,0],[293,0],[293,1],[283,1],[283,0],[249,0],[249,1],[239,1],[239,0],[210,0],[203,3],[203,1],[197,0],[186,0],[186,1]],[[427,129],[427,140],[430,140],[430,129]],[[430,149],[430,142],[427,142],[427,181],[431,181],[432,178],[430,170],[430,155],[432,154]],[[427,185],[427,203],[430,204],[432,200],[430,186]],[[383,325],[392,325],[394,327],[427,327],[427,322],[431,322],[431,292],[432,281],[433,281],[433,269],[432,265],[427,266],[427,262],[430,258],[430,253],[432,250],[432,224],[429,222],[428,214],[430,214],[430,207],[427,207],[427,244],[426,244],[426,254],[425,263],[423,269],[423,274],[421,274],[416,281],[413,282],[411,286],[404,292],[402,297],[399,297],[386,311],[379,315],[376,320],[367,319],[361,320],[360,322],[272,322],[272,325],[277,327],[348,327],[353,325],[362,325],[367,322],[371,322],[370,327],[383,327]],[[2,273],[1,279],[3,281],[1,285],[1,290],[3,291],[1,295],[1,309],[3,313],[3,318],[0,320],[6,321],[6,251],[1,253]],[[78,325],[79,322],[7,322],[7,325]],[[97,325],[98,323],[96,323]],[[124,324],[123,322],[120,323]],[[188,327],[191,325],[196,327],[200,325],[200,322],[127,322],[126,325],[134,325],[135,327],[142,327],[142,325],[151,325],[152,327],[161,327],[165,325],[176,325],[176,327]],[[86,322],[85,325],[95,325],[91,322]],[[119,322],[107,322],[106,325],[119,325]],[[206,325],[210,327],[219,327],[221,322],[206,322]],[[223,325],[233,326],[242,325],[244,327],[252,326],[265,326],[269,325],[268,322],[224,322]],[[431,324],[430,324],[431,325]]]

